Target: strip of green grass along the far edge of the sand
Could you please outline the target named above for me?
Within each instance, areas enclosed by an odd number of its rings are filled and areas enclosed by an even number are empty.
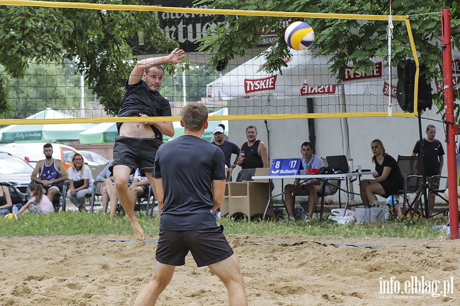
[[[137,218],[147,236],[158,235],[158,218],[146,217],[144,213]],[[225,235],[249,234],[305,235],[305,236],[341,236],[341,237],[400,237],[400,238],[436,238],[445,236],[445,231],[432,232],[431,226],[446,224],[447,218],[406,220],[403,222],[350,223],[340,225],[336,222],[313,219],[310,222],[281,221],[232,221],[228,218],[218,220],[225,228]],[[61,212],[51,215],[26,214],[18,221],[0,218],[0,236],[74,236],[90,234],[128,234],[132,235],[129,221],[121,216],[109,218],[102,214],[82,214]]]

